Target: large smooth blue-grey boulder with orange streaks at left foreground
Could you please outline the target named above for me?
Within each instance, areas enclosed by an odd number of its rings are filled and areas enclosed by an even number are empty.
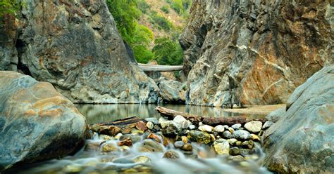
[[[51,83],[0,71],[0,170],[76,152],[86,135],[85,117]]]

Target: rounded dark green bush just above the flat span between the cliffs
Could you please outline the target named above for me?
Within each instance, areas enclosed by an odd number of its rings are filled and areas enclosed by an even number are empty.
[[[155,60],[159,65],[182,65],[183,50],[178,41],[172,41],[168,37],[161,37],[154,41],[152,49]]]

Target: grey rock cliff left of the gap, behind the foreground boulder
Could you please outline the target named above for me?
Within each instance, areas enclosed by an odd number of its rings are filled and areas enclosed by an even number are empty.
[[[158,88],[125,47],[105,1],[23,1],[6,20],[0,69],[52,83],[73,102],[156,102]]]

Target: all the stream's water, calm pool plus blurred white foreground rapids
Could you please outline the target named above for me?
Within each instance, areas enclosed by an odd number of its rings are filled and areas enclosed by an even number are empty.
[[[86,116],[88,123],[109,122],[128,116],[159,117],[154,108],[156,105],[78,105],[79,111]],[[202,116],[239,116],[223,112],[221,108],[197,107],[185,105],[163,105],[180,112],[190,112]],[[263,117],[261,115],[248,115],[251,119]],[[144,135],[142,135],[142,140]],[[233,162],[227,156],[217,156],[206,145],[192,142],[192,154],[184,154],[173,147],[173,143],[163,147],[163,152],[140,152],[142,140],[124,149],[118,147],[118,140],[107,140],[116,147],[113,152],[101,153],[101,147],[94,150],[83,148],[74,156],[67,156],[59,160],[37,163],[24,168],[13,169],[10,173],[269,173],[266,168],[259,165],[264,159],[264,153],[257,144],[256,153],[247,156],[250,160]],[[104,140],[94,135],[87,143],[99,144]],[[180,159],[162,158],[164,152],[173,149]],[[143,157],[143,163],[135,163],[134,159]],[[147,160],[147,157],[149,160]]]

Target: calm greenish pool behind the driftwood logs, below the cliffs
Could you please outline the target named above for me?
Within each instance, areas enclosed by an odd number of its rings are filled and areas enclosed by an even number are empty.
[[[76,105],[79,112],[83,114],[88,123],[106,123],[128,116],[139,116],[141,118],[156,117],[160,114],[154,109],[158,105]],[[199,116],[247,116],[248,119],[264,118],[259,114],[236,114],[225,112],[221,107],[201,107],[193,105],[160,105],[178,112],[188,112]]]

